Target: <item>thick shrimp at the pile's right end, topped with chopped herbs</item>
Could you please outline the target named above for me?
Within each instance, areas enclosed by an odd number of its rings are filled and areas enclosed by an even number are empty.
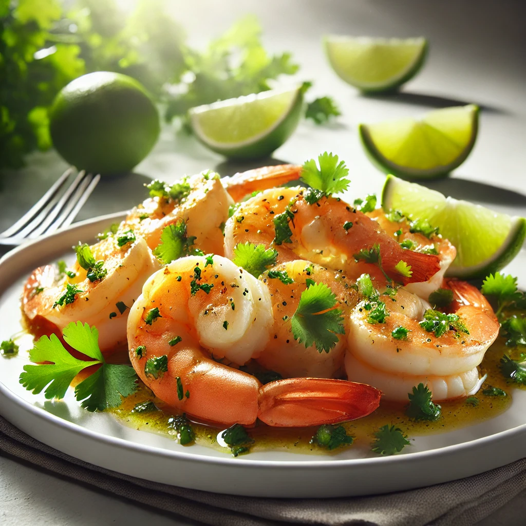
[[[421,382],[435,400],[467,396],[477,385],[477,366],[497,338],[499,322],[477,288],[454,279],[445,279],[442,287],[453,292],[446,312],[458,315],[468,332],[447,330],[436,337],[424,330],[419,320],[430,306],[403,288],[395,298],[380,296],[388,311],[385,323],[370,323],[362,301],[349,319],[348,379],[369,383],[391,400],[407,400]],[[409,331],[407,338],[392,336],[397,327]]]

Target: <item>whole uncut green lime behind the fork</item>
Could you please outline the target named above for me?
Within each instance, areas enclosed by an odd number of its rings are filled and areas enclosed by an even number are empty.
[[[98,174],[140,163],[159,137],[159,113],[137,80],[112,72],[78,77],[56,96],[49,114],[58,153]]]

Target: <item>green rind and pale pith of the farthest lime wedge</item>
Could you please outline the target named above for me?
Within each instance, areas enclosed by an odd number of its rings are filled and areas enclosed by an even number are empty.
[[[362,43],[365,48],[371,45],[383,45],[386,49],[392,46],[393,50],[397,46],[407,46],[407,44],[417,44],[416,54],[412,57],[411,60],[408,60],[407,64],[404,65],[400,70],[395,74],[392,74],[386,79],[382,79],[377,82],[363,82],[363,80],[358,80],[356,77],[353,77],[351,73],[345,72],[345,66],[342,67],[339,62],[340,59],[335,57],[333,50],[331,49],[333,45],[337,45],[340,42],[350,42],[354,45]],[[345,44],[344,44],[345,45]],[[325,53],[327,59],[335,71],[335,73],[347,84],[354,86],[359,89],[362,93],[365,94],[374,94],[374,93],[383,93],[391,92],[398,89],[402,84],[405,84],[413,78],[426,62],[426,58],[429,53],[429,43],[427,39],[423,37],[417,38],[408,38],[408,39],[398,39],[398,38],[371,38],[371,37],[344,37],[344,36],[335,36],[330,35],[323,38],[323,47],[325,48]],[[369,66],[369,64],[368,64]]]

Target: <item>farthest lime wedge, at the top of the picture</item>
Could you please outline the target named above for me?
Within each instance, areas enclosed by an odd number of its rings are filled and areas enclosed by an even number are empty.
[[[426,60],[425,38],[328,36],[325,50],[340,78],[362,92],[385,92],[407,82]]]

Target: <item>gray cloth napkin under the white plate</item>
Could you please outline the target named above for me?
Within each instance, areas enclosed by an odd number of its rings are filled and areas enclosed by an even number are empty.
[[[267,499],[220,495],[129,477],[70,457],[0,417],[0,453],[157,510],[218,526],[469,526],[526,488],[526,459],[428,488],[372,497]]]

